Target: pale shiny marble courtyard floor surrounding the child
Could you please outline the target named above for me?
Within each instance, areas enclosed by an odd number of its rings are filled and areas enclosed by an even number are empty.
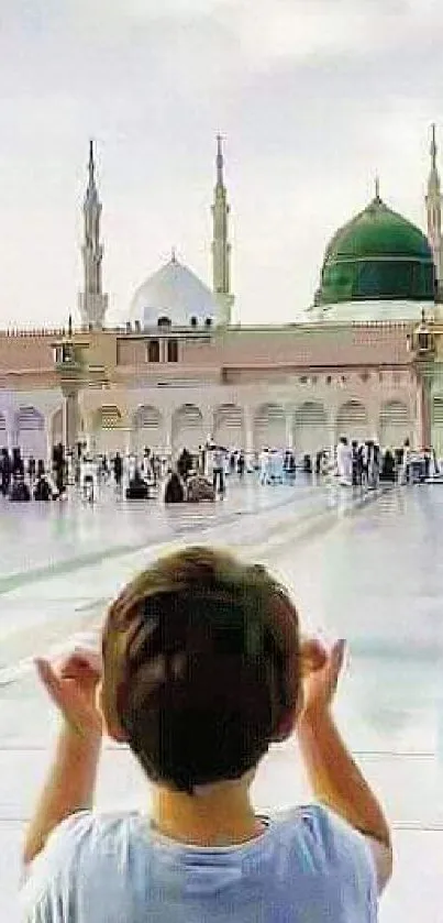
[[[335,714],[394,826],[396,868],[381,923],[443,919],[443,485],[352,491],[232,487],[215,507],[69,502],[0,507],[0,919],[18,920],[23,826],[49,758],[56,716],[31,658],[100,624],[120,585],[158,551],[229,545],[289,583],[307,629],[346,637]],[[309,798],[294,739],[273,748],[258,809]],[[124,748],[106,746],[98,807],[146,809]]]

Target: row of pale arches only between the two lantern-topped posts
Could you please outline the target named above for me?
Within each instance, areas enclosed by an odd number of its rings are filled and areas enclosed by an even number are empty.
[[[413,440],[414,421],[408,405],[399,399],[378,405],[376,414],[357,399],[344,399],[331,409],[317,399],[294,406],[261,403],[241,406],[235,403],[204,408],[184,403],[175,408],[153,404],[130,411],[117,406],[101,407],[90,417],[89,442],[96,451],[152,450],[177,454],[185,446],[197,450],[209,436],[226,448],[259,451],[294,447],[297,452],[314,453],[335,444],[340,436],[357,440],[377,439],[383,447]]]

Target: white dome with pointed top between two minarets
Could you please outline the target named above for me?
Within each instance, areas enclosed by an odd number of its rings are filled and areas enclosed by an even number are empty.
[[[207,318],[215,325],[219,308],[210,288],[173,256],[135,292],[131,320],[156,327],[159,318],[168,318],[173,327],[189,327],[192,317],[199,326]]]

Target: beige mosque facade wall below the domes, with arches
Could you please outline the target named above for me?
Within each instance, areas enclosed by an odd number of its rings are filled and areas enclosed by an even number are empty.
[[[147,334],[78,332],[79,427],[106,451],[144,444],[177,451],[184,443],[197,448],[209,435],[247,451],[267,443],[309,452],[334,444],[343,430],[387,442],[414,438],[417,383],[408,329],[242,328],[213,331],[208,342],[177,332],[179,363],[158,365],[146,362]],[[53,366],[57,339],[54,333],[0,334],[0,441],[15,438],[22,405],[43,415],[47,446],[59,438],[64,398]],[[153,408],[155,425],[152,418],[137,422],[141,407]]]

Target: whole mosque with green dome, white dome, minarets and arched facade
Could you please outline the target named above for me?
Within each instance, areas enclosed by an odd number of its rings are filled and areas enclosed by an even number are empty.
[[[107,326],[101,204],[90,144],[78,325],[0,332],[0,444],[48,458],[197,449],[209,436],[258,451],[313,453],[341,435],[443,455],[443,241],[435,129],[427,234],[374,199],[326,248],[303,318],[232,323],[230,206],[218,139],[212,285],[173,253]]]

